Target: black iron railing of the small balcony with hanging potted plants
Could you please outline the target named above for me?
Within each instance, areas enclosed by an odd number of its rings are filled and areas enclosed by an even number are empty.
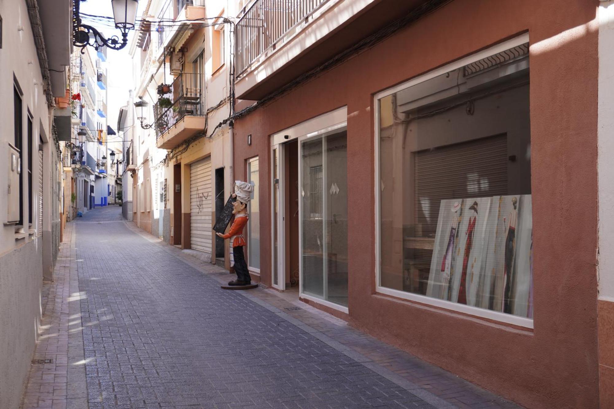
[[[182,72],[171,84],[171,90],[158,98],[153,106],[156,138],[186,115],[203,117],[204,75]]]

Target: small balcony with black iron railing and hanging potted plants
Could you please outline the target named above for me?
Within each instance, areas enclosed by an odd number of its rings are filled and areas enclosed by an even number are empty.
[[[163,99],[166,98],[166,99]],[[204,75],[183,72],[153,106],[156,146],[173,149],[204,130]]]

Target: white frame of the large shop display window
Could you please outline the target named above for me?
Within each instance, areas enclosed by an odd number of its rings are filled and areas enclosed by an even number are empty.
[[[382,287],[381,283],[381,176],[380,176],[380,158],[379,158],[379,99],[392,95],[400,90],[411,87],[416,84],[420,84],[426,80],[445,74],[446,72],[454,71],[462,66],[465,66],[474,61],[481,60],[490,55],[503,52],[512,47],[516,47],[521,44],[529,42],[529,33],[515,37],[508,41],[503,41],[500,44],[494,45],[489,49],[482,50],[481,52],[473,55],[466,56],[453,63],[447,64],[432,71],[427,72],[414,79],[403,82],[402,84],[395,85],[395,87],[388,88],[382,92],[376,93],[373,96],[373,111],[375,111],[375,138],[373,140],[375,146],[375,285],[376,294],[391,295],[392,297],[402,298],[413,302],[418,302],[426,305],[432,305],[445,310],[455,311],[457,313],[467,314],[470,316],[481,317],[485,319],[491,319],[492,321],[503,322],[505,324],[518,325],[528,329],[533,329],[533,319],[515,316],[513,314],[506,314],[499,311],[486,310],[484,308],[478,308],[475,306],[459,304],[447,300],[440,300],[439,298],[427,297],[426,295],[413,294],[411,292],[405,292],[401,290],[390,289]]]

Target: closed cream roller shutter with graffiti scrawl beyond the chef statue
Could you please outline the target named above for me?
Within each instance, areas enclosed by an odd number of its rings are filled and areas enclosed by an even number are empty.
[[[190,165],[190,247],[211,254],[211,158]]]

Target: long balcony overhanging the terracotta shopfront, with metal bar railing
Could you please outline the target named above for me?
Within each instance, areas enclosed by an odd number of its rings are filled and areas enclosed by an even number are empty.
[[[350,52],[352,46],[425,0],[255,0],[237,16],[239,99],[260,100],[293,79]],[[426,7],[428,8],[428,7]]]

